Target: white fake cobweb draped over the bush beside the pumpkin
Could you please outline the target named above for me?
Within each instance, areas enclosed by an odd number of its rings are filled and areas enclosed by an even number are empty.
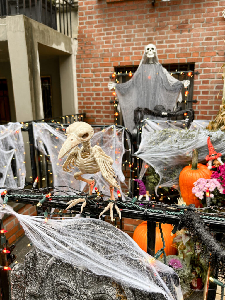
[[[224,132],[204,129],[207,125],[205,121],[193,121],[187,130],[184,129],[185,122],[159,120],[143,122],[145,127],[142,127],[141,143],[136,154],[159,174],[160,181],[155,187],[156,193],[159,186],[179,189],[179,173],[190,164],[193,149],[198,149],[199,162],[205,162],[209,134],[214,148],[225,154]]]

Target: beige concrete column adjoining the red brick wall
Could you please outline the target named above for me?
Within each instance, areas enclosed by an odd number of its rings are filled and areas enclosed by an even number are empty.
[[[62,114],[72,115],[78,113],[77,85],[76,85],[76,49],[77,42],[73,40],[73,53],[60,56],[60,84],[62,98]]]

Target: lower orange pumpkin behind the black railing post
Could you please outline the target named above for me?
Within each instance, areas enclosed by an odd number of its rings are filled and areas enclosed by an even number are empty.
[[[162,224],[163,237],[165,240],[165,252],[166,255],[174,255],[177,252],[176,247],[173,244],[173,238],[175,235],[171,236],[170,233],[173,229],[171,224]],[[147,252],[147,221],[140,223],[134,230],[133,235],[134,241],[139,245],[139,247]],[[163,242],[159,230],[158,223],[156,223],[155,228],[155,252],[163,247]],[[162,255],[161,255],[162,256]]]

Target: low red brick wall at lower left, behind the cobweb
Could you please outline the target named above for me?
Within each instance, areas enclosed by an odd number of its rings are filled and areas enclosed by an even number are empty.
[[[17,211],[19,214],[36,215],[36,206],[25,205]],[[8,246],[15,244],[19,238],[24,235],[22,226],[19,225],[19,221],[14,216],[9,216],[3,220],[3,226],[8,232],[5,234],[8,240]]]

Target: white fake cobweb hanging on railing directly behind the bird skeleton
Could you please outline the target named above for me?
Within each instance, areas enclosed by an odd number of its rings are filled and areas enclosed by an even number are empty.
[[[62,170],[62,164],[66,158],[58,161],[59,150],[66,140],[66,127],[60,124],[35,123],[33,122],[33,131],[35,138],[35,147],[37,147],[45,155],[49,155],[52,164],[52,173],[54,175],[54,185],[64,185],[76,188],[77,190],[85,190],[87,184],[74,179],[73,174],[78,172],[75,167],[73,172],[68,173]],[[113,168],[115,170],[117,181],[124,182],[125,177],[122,172],[122,158],[124,149],[124,128],[110,125],[103,128],[94,128],[95,134],[91,139],[91,146],[98,145],[104,152],[113,158]],[[81,145],[79,145],[80,147]],[[110,194],[109,184],[102,177],[101,172],[96,174],[85,174],[84,178],[94,178],[95,186],[103,193]],[[114,190],[117,195],[116,190]]]

